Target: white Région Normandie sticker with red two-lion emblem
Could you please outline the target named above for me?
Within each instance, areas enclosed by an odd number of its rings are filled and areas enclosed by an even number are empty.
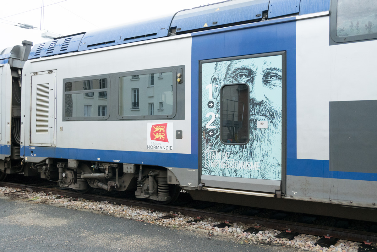
[[[173,123],[147,123],[147,149],[173,151]]]

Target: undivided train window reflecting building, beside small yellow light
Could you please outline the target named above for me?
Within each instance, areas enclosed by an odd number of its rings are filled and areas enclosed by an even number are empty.
[[[124,75],[124,74],[123,74]],[[135,78],[137,76],[137,78]],[[173,118],[176,112],[174,68],[130,72],[119,77],[119,119]],[[157,109],[154,104],[158,104]],[[163,109],[161,109],[163,108]]]

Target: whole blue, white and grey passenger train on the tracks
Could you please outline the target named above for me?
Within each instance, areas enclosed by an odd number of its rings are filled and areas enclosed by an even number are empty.
[[[376,38],[373,1],[230,0],[23,41],[0,179],[375,220]]]

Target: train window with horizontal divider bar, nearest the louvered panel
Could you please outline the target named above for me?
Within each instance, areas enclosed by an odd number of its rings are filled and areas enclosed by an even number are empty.
[[[64,83],[64,119],[106,120],[109,118],[109,79],[107,76],[98,76],[66,80]]]

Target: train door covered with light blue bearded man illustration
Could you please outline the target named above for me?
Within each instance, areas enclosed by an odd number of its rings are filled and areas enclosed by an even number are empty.
[[[276,193],[285,171],[284,52],[201,61],[201,183]]]

